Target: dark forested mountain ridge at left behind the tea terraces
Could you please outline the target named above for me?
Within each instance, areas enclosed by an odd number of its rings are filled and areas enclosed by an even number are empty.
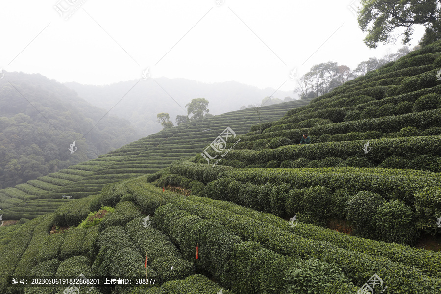
[[[128,121],[106,112],[40,74],[5,72],[0,80],[0,188],[97,158],[137,138]],[[74,141],[77,151],[71,154]]]

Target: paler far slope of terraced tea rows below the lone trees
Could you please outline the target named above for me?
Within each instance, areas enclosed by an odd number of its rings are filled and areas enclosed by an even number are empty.
[[[98,195],[105,184],[154,173],[173,160],[201,153],[226,127],[246,134],[253,124],[281,118],[289,109],[305,106],[310,100],[286,102],[259,111],[251,108],[181,124],[123,146],[108,154],[38,177],[15,187],[0,190],[3,220],[33,219],[54,212],[72,199]],[[208,130],[208,131],[206,131]]]

